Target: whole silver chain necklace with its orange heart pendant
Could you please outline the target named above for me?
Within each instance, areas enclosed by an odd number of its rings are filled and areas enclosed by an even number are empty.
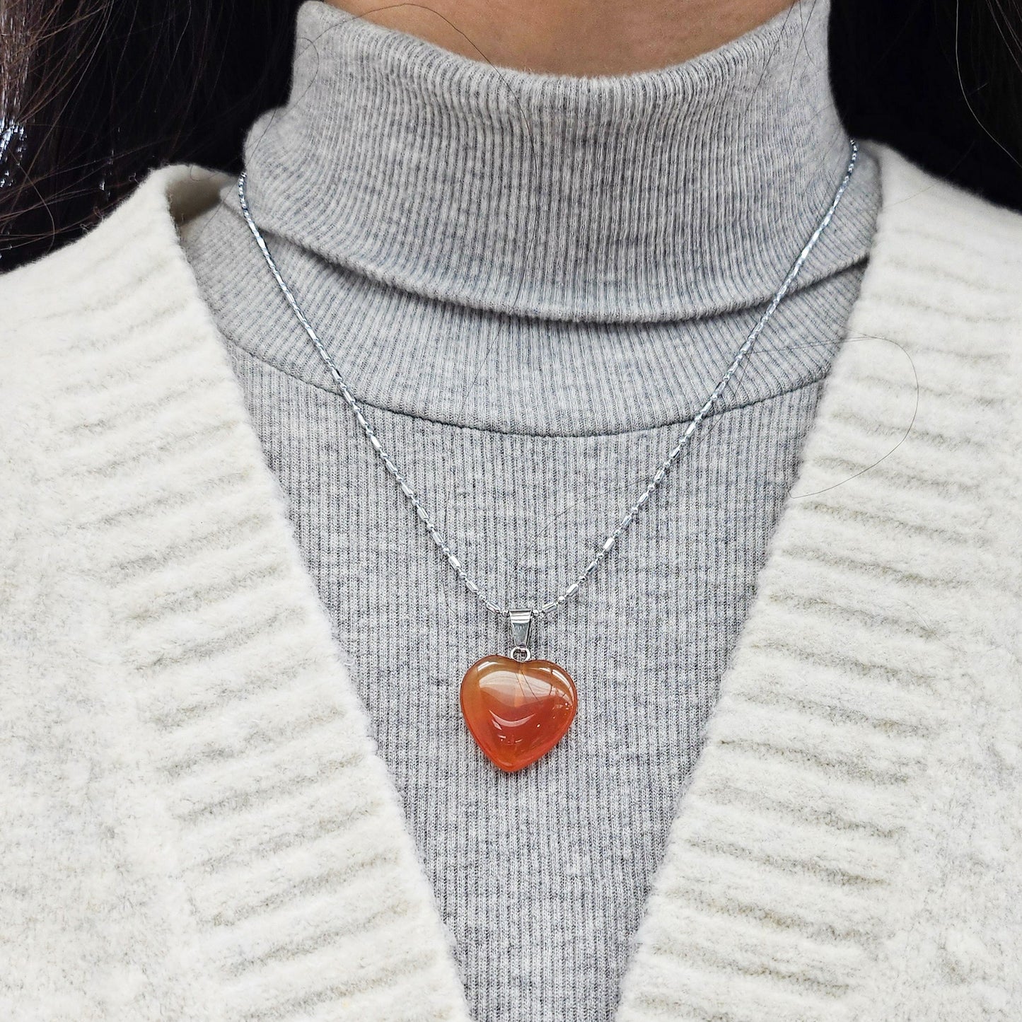
[[[251,211],[248,207],[248,199],[245,193],[246,175],[242,172],[239,176],[238,199],[245,223],[248,225],[248,229],[251,231],[252,237],[256,239],[256,243],[263,253],[263,259],[273,274],[277,286],[287,299],[287,304],[290,306],[295,318],[301,324],[309,335],[309,339],[315,345],[320,358],[333,377],[344,403],[355,416],[355,421],[359,428],[383,462],[390,477],[401,487],[401,492],[405,495],[426,532],[444,555],[454,573],[486,610],[505,617],[510,624],[510,655],[504,656],[495,653],[477,660],[465,672],[460,689],[462,715],[465,718],[469,733],[486,757],[501,770],[513,773],[546,755],[567,734],[578,703],[578,695],[574,682],[563,667],[552,660],[532,659],[529,643],[532,628],[537,619],[551,613],[565,601],[570,600],[588,580],[590,575],[603,563],[620,535],[635,521],[639,512],[646,505],[646,502],[659,489],[667,472],[670,471],[671,466],[699,428],[700,423],[716,407],[721,396],[738,371],[739,366],[752,350],[756,338],[762,333],[763,328],[777,311],[778,306],[780,306],[785,295],[791,289],[795,278],[808,259],[809,253],[830,225],[834,213],[851,181],[851,176],[858,159],[858,144],[854,139],[849,139],[849,144],[850,155],[848,157],[848,165],[837,190],[834,192],[834,197],[830,205],[821,218],[816,230],[814,230],[809,239],[802,247],[802,250],[798,253],[794,263],[792,263],[791,268],[781,282],[781,286],[774,294],[762,316],[759,317],[755,326],[749,331],[741,346],[736,351],[724,375],[716,382],[702,407],[682,431],[677,445],[657,466],[656,471],[650,476],[638,499],[620,518],[614,530],[607,536],[599,550],[589,560],[578,576],[557,596],[546,603],[532,607],[502,607],[489,599],[462,567],[454,551],[437,529],[432,517],[426,511],[425,507],[423,507],[418,495],[408,484],[404,473],[383,447],[376,431],[366,418],[361,404],[347,388],[336,364],[330,357],[322,340],[320,340],[315,329],[313,329],[312,324],[306,318],[291,289],[281,276],[280,270],[277,268],[277,264],[270,253],[266,239],[263,237],[259,227],[257,227],[256,221],[251,216]]]

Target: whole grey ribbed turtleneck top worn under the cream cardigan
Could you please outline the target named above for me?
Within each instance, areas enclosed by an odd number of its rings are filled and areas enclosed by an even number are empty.
[[[811,17],[810,17],[811,9]],[[246,146],[281,269],[468,571],[564,587],[668,451],[847,156],[821,0],[695,60],[605,79],[494,68],[319,2]],[[509,648],[358,434],[232,187],[189,258],[450,927],[474,1018],[602,1022],[753,596],[869,250],[865,156],[797,290],[536,653],[568,737],[515,775],[462,723]]]

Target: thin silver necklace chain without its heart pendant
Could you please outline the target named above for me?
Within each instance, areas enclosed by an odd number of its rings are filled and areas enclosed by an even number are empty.
[[[549,613],[552,610],[555,610],[562,603],[564,603],[566,600],[569,600],[572,596],[575,595],[575,593],[578,592],[579,587],[586,582],[587,578],[589,578],[589,576],[597,569],[600,563],[606,558],[606,556],[613,549],[614,544],[617,542],[620,535],[629,527],[629,525],[632,524],[633,521],[635,521],[636,517],[642,510],[643,506],[650,499],[650,497],[652,497],[653,494],[657,491],[660,483],[663,482],[663,479],[666,476],[667,472],[670,470],[671,465],[673,465],[675,462],[678,460],[678,456],[688,445],[689,440],[692,438],[692,434],[699,428],[699,424],[703,421],[703,419],[706,418],[707,415],[710,414],[710,412],[716,406],[716,403],[721,399],[721,394],[724,393],[728,384],[731,382],[732,377],[738,371],[738,367],[744,361],[746,355],[748,355],[749,352],[752,350],[752,345],[755,344],[756,338],[759,336],[760,333],[762,333],[763,328],[770,322],[771,317],[773,317],[774,313],[777,310],[777,307],[781,304],[784,296],[791,289],[791,285],[795,282],[795,278],[798,276],[799,271],[802,269],[802,265],[809,258],[809,252],[811,252],[814,247],[816,247],[817,242],[820,240],[820,236],[824,233],[825,230],[827,230],[828,225],[833,219],[834,213],[838,207],[838,203],[841,201],[841,197],[844,195],[845,190],[848,187],[848,183],[851,181],[851,175],[852,172],[855,170],[855,164],[858,159],[858,143],[854,139],[849,139],[849,142],[851,146],[851,154],[848,158],[848,166],[847,169],[845,170],[844,177],[842,178],[841,183],[837,188],[837,191],[834,193],[834,198],[831,201],[830,206],[824,214],[823,219],[817,226],[817,229],[810,235],[809,240],[806,241],[805,246],[798,253],[798,258],[795,260],[794,263],[792,263],[791,269],[788,271],[787,276],[782,281],[781,286],[777,290],[777,293],[774,295],[770,305],[766,307],[766,311],[759,318],[759,321],[756,323],[756,325],[749,332],[748,336],[745,338],[745,341],[742,344],[742,346],[739,347],[738,352],[735,354],[734,359],[732,359],[731,361],[731,365],[728,366],[727,371],[721,377],[716,386],[714,386],[713,389],[710,391],[710,394],[706,399],[705,404],[702,406],[702,408],[699,409],[698,412],[696,412],[692,421],[688,424],[688,426],[685,428],[685,431],[682,433],[681,439],[679,439],[678,444],[670,451],[670,453],[663,459],[663,461],[660,462],[656,471],[653,473],[649,481],[646,483],[646,487],[640,494],[639,499],[632,505],[631,508],[629,508],[628,514],[625,514],[621,518],[621,520],[617,523],[614,530],[609,536],[607,536],[607,538],[603,541],[603,544],[600,547],[599,551],[597,551],[593,559],[586,565],[586,567],[583,569],[578,577],[575,578],[575,580],[571,583],[571,585],[568,586],[567,589],[565,589],[560,594],[560,596],[556,597],[553,600],[548,601],[547,603],[541,604],[538,607],[527,609],[527,612],[529,614],[529,619],[532,616],[542,616],[546,613]],[[244,172],[242,172],[240,177],[238,178],[238,199],[241,203],[241,213],[245,218],[245,223],[248,225],[248,229],[251,231],[252,237],[254,237],[256,243],[259,245],[260,251],[263,253],[263,258],[266,260],[266,264],[270,268],[270,272],[273,274],[274,280],[277,281],[277,285],[280,287],[280,290],[283,293],[284,297],[287,299],[288,305],[291,307],[291,310],[297,317],[298,322],[303,325],[303,327],[305,327],[306,333],[309,334],[309,339],[312,340],[313,344],[316,345],[316,351],[319,353],[320,358],[326,364],[326,367],[329,370],[330,375],[333,377],[334,382],[336,382],[337,386],[340,388],[341,397],[344,399],[344,402],[347,404],[347,407],[352,410],[352,414],[355,416],[356,421],[362,428],[363,433],[365,433],[366,438],[372,445],[373,450],[379,455],[383,464],[386,466],[386,470],[393,477],[398,485],[401,486],[401,492],[405,495],[405,497],[408,498],[409,503],[415,509],[415,513],[421,519],[422,524],[425,526],[426,531],[429,533],[433,543],[436,544],[440,553],[444,554],[445,558],[447,558],[448,564],[451,565],[451,567],[454,569],[458,577],[465,584],[465,588],[473,596],[475,596],[476,599],[478,599],[479,602],[482,603],[482,605],[487,610],[493,611],[495,614],[500,614],[504,617],[509,617],[509,618],[511,617],[512,613],[516,612],[522,613],[523,611],[517,608],[502,607],[499,604],[494,603],[493,600],[487,599],[479,591],[479,587],[469,577],[468,573],[461,566],[461,561],[459,561],[458,558],[455,557],[451,547],[447,544],[447,541],[440,535],[439,529],[436,528],[436,525],[433,522],[432,518],[430,517],[429,513],[422,506],[422,502],[419,500],[418,495],[408,484],[404,473],[401,471],[401,469],[398,468],[393,459],[390,457],[386,449],[380,443],[380,438],[379,436],[377,436],[376,430],[373,429],[372,425],[366,419],[366,416],[362,411],[362,406],[353,397],[352,391],[349,390],[347,384],[342,379],[339,370],[334,364],[333,359],[330,358],[330,355],[327,352],[326,347],[323,345],[323,342],[320,340],[319,335],[313,329],[312,324],[309,322],[309,320],[305,316],[305,313],[303,313],[301,309],[298,307],[298,303],[296,301],[294,295],[291,293],[291,289],[287,286],[286,282],[284,281],[284,278],[280,275],[280,270],[277,269],[277,264],[274,262],[273,257],[270,254],[270,249],[267,247],[266,239],[263,237],[262,233],[260,232],[260,229],[256,226],[256,222],[252,220],[251,212],[248,208],[248,199],[245,195]],[[523,647],[516,647],[516,648],[523,648]],[[525,650],[526,658],[527,655],[528,653],[526,649]]]

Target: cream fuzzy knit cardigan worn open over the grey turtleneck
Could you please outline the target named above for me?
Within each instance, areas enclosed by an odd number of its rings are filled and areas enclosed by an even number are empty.
[[[875,151],[619,1022],[1022,1019],[1022,218]],[[465,1022],[178,242],[224,180],[0,278],[0,1019]]]

